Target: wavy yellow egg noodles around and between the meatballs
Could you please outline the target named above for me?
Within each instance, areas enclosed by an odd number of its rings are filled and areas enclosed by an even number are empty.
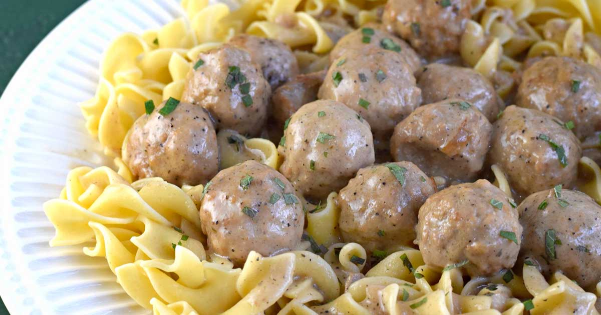
[[[460,53],[484,74],[501,96],[519,70],[514,57],[572,56],[601,67],[598,0],[475,0]],[[183,0],[185,16],[141,35],[123,34],[106,50],[96,96],[81,105],[86,127],[115,158],[115,170],[78,167],[67,176],[58,199],[44,203],[55,226],[51,246],[88,245],[84,254],[105,257],[125,292],[161,315],[192,314],[597,314],[597,292],[585,292],[561,273],[545,279],[534,266],[515,266],[465,282],[458,268],[424,264],[418,250],[374,253],[341,243],[340,209],[331,193],[326,205],[307,213],[302,248],[272,257],[252,251],[243,268],[207,254],[198,207],[202,185],[177,187],[160,178],[135,181],[121,148],[144,102],[180,99],[186,74],[198,53],[246,32],[275,38],[293,49],[301,70],[328,66],[334,46],[328,20],[355,25],[379,20],[381,0],[246,0],[209,4]],[[327,17],[327,18],[326,18]],[[228,137],[239,137],[230,143]],[[257,160],[274,169],[281,158],[266,139],[218,133],[220,169]],[[495,184],[510,188],[493,166]],[[601,169],[580,161],[591,181],[579,187],[601,202]],[[371,269],[364,269],[371,262]],[[358,280],[357,280],[358,279]],[[351,281],[356,280],[356,281]],[[524,302],[522,302],[524,301]],[[380,306],[382,308],[380,308]],[[499,311],[501,310],[501,311]]]

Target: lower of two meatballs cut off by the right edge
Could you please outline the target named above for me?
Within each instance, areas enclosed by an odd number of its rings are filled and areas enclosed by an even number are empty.
[[[517,209],[524,227],[518,263],[534,260],[544,275],[561,271],[592,292],[601,281],[601,206],[579,191],[561,190],[557,197],[543,190]],[[561,244],[554,244],[553,233]]]

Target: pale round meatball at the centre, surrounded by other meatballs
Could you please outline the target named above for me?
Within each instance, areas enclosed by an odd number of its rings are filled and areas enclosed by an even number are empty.
[[[279,168],[297,191],[323,200],[374,163],[370,125],[343,103],[319,100],[292,115],[280,142]]]

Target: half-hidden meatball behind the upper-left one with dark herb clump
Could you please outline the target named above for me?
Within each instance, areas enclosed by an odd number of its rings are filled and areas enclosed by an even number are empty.
[[[272,90],[299,74],[296,56],[281,41],[240,34],[231,38],[230,44],[246,49],[251,54],[252,61],[261,67]]]

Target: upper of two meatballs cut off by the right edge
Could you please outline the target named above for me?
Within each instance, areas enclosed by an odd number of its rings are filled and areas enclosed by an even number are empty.
[[[569,57],[547,57],[527,68],[516,104],[573,121],[579,139],[601,130],[601,69]]]

